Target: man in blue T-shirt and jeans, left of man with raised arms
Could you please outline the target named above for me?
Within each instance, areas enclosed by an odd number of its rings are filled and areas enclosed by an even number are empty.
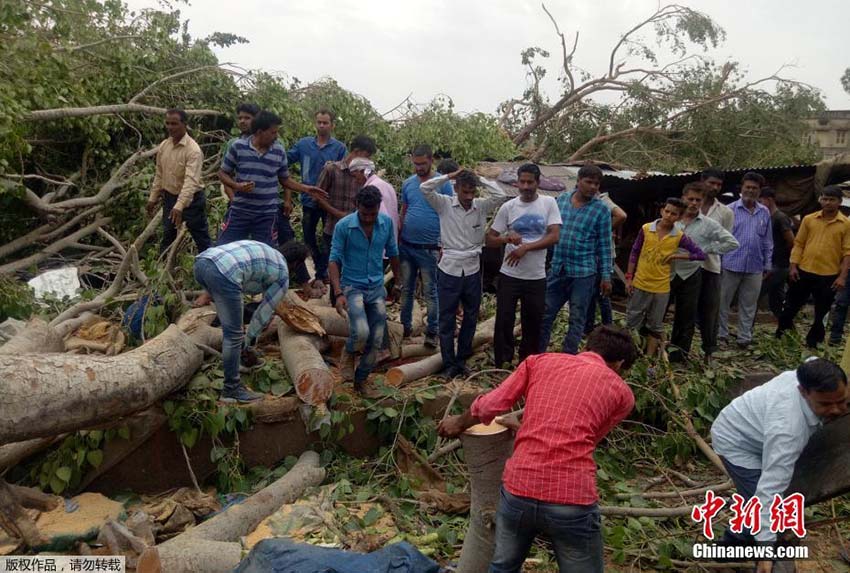
[[[422,290],[428,308],[428,324],[425,328],[425,345],[437,346],[440,311],[437,304],[437,258],[440,255],[440,217],[425,200],[419,190],[423,181],[434,174],[431,166],[434,155],[428,145],[417,145],[411,154],[414,175],[401,186],[401,324],[404,336],[413,328],[413,297],[416,292],[416,276],[422,272]],[[453,195],[452,185],[446,181],[438,193]],[[398,277],[399,275],[395,275]]]

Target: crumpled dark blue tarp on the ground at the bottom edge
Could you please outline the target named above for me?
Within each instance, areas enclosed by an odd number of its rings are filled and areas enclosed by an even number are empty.
[[[402,541],[372,553],[295,543],[278,537],[251,549],[234,573],[439,573],[440,566]]]

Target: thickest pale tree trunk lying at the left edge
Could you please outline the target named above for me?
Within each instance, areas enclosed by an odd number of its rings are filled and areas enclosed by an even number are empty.
[[[0,444],[128,416],[183,386],[203,353],[177,326],[119,356],[0,356]]]

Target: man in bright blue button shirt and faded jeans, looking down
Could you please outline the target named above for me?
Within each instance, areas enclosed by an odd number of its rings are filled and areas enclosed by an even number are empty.
[[[348,340],[340,357],[340,374],[344,380],[353,378],[354,390],[363,393],[387,326],[384,254],[390,259],[394,276],[399,276],[399,261],[393,223],[380,213],[378,188],[367,185],[360,189],[355,204],[357,211],[340,219],[334,227],[328,274],[334,292],[342,293],[336,299],[336,310],[348,316]],[[356,371],[355,353],[361,354]]]

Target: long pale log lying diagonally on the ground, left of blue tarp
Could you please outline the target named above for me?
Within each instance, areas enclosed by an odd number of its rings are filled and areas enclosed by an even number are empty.
[[[138,573],[224,573],[242,559],[239,539],[266,517],[322,483],[319,454],[307,451],[285,476],[212,519],[142,553]]]

